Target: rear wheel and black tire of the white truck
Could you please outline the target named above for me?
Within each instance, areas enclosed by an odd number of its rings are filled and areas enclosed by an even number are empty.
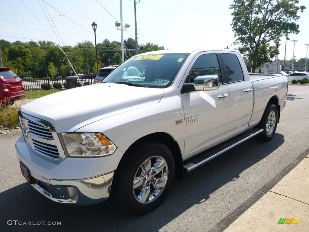
[[[262,119],[257,127],[263,128],[263,132],[256,135],[256,138],[261,141],[269,141],[273,138],[278,123],[278,110],[276,105],[268,104],[262,116]]]

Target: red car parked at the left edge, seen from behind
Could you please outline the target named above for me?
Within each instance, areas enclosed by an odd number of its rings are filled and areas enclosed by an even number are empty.
[[[0,67],[0,104],[25,98],[22,80],[10,69]]]

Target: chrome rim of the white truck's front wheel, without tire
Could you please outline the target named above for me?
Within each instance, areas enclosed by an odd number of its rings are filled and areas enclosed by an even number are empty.
[[[168,178],[167,162],[160,156],[147,158],[138,168],[133,180],[133,195],[138,202],[154,201],[163,191]]]

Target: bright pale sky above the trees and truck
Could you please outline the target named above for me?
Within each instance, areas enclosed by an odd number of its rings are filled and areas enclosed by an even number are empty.
[[[121,31],[115,27],[120,21],[120,0],[0,0],[0,39],[10,42],[54,41],[60,46],[74,46],[78,42],[95,44],[91,24],[98,24],[97,43],[104,39],[121,42]],[[153,43],[165,49],[226,48],[237,49],[232,32],[233,0],[136,0],[138,44]],[[306,6],[299,0],[298,6]],[[306,57],[309,44],[309,4],[298,12],[300,33],[281,38],[279,59]],[[122,0],[124,39],[135,39],[134,1]],[[52,25],[52,26],[51,26]],[[120,28],[119,28],[120,29]]]

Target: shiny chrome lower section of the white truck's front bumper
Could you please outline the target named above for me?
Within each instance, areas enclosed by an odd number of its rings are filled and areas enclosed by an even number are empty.
[[[91,205],[108,200],[114,172],[78,180],[46,179],[29,170],[32,187],[50,200],[61,203]]]

